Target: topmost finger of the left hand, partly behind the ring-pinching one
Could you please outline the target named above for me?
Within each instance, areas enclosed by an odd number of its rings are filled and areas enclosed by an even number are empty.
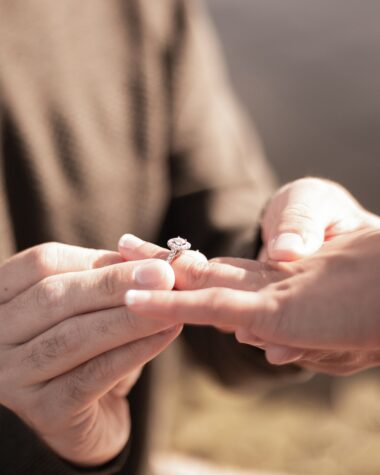
[[[32,247],[11,257],[0,267],[0,304],[48,276],[120,262],[122,259],[117,252],[54,242]]]

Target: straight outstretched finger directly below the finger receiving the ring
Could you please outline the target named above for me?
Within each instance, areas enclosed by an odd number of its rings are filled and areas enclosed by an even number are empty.
[[[260,315],[272,310],[270,298],[258,292],[224,288],[194,291],[129,291],[126,305],[136,315],[175,323],[213,325],[216,327],[248,326],[252,309]]]

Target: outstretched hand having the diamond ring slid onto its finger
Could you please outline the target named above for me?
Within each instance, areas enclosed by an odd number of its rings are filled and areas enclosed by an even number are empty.
[[[145,243],[132,253],[155,254]],[[380,363],[380,231],[336,237],[292,263],[218,259],[174,262],[182,292],[128,292],[135,314],[172,324],[228,326],[264,346],[269,362],[350,374]],[[378,275],[379,274],[379,275]]]

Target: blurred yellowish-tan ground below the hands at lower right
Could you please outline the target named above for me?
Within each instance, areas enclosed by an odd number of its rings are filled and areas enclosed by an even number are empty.
[[[380,473],[376,371],[335,380],[319,376],[267,393],[252,388],[240,396],[201,373],[186,374],[178,383],[181,404],[171,407],[174,452],[252,475]]]

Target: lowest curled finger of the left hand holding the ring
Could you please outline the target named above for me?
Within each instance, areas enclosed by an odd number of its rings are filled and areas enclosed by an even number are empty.
[[[62,412],[70,413],[102,397],[119,381],[161,353],[181,332],[177,326],[170,330],[128,343],[53,379],[44,388],[46,401],[61,399]],[[63,400],[62,400],[63,398]]]

